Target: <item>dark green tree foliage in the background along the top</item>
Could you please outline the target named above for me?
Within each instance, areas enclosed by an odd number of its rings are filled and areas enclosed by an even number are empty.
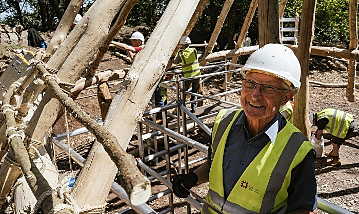
[[[94,1],[86,0],[79,13],[85,14]],[[126,25],[148,26],[153,30],[169,1],[139,0],[131,10]],[[301,15],[302,1],[288,1],[284,17],[294,17],[295,13]],[[209,0],[191,33],[193,41],[209,41],[224,2],[225,0]],[[8,15],[0,22],[10,26],[20,23],[25,29],[32,27],[42,31],[54,30],[69,3],[70,0],[3,0],[0,2],[0,12],[6,11]],[[233,35],[240,33],[250,3],[251,0],[234,1],[217,39],[218,44],[221,44],[220,49],[225,46],[234,47]],[[348,45],[348,10],[349,0],[317,0],[314,42]],[[258,44],[257,12],[249,28],[249,36],[253,45]]]

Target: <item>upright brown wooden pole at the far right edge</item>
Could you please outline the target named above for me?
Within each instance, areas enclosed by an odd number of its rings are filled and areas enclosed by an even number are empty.
[[[356,50],[358,46],[358,34],[357,34],[357,22],[356,14],[358,10],[358,0],[349,0],[349,49]],[[347,97],[348,101],[355,102],[355,77],[356,77],[356,60],[349,58],[349,74],[348,74],[348,86]]]

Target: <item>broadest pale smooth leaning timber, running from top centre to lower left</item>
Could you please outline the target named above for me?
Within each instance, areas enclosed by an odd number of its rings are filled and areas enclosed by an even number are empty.
[[[137,122],[142,119],[148,100],[162,78],[167,62],[188,26],[198,2],[199,0],[171,0],[147,40],[146,47],[136,54],[104,123],[123,148],[127,148]],[[102,204],[110,190],[110,185],[104,184],[111,184],[117,172],[111,159],[103,155],[103,148],[98,144],[95,142],[92,146],[86,164],[72,188],[72,196],[79,205]],[[86,197],[90,190],[96,197]]]

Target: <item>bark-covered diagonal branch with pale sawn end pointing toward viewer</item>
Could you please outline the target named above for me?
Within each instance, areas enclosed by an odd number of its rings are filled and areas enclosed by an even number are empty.
[[[38,65],[37,69],[41,75],[49,74],[42,65]],[[44,81],[48,87],[51,88],[51,91],[55,94],[56,99],[66,106],[66,109],[78,122],[83,124],[90,133],[96,136],[98,142],[103,144],[105,151],[111,157],[111,160],[116,164],[119,180],[122,181],[121,184],[130,196],[131,200],[135,202],[138,201],[138,199],[134,198],[133,195],[145,195],[144,197],[147,197],[147,199],[143,202],[145,203],[151,196],[150,181],[142,175],[141,172],[139,172],[135,165],[136,161],[133,156],[125,152],[125,150],[118,144],[116,137],[105,130],[104,126],[99,125],[86,112],[82,111],[82,109],[79,108],[74,101],[61,90],[54,79],[44,78]],[[91,192],[91,194],[92,193],[93,192]],[[75,201],[77,200],[75,199]],[[78,201],[77,205],[79,207],[84,206],[78,204]]]

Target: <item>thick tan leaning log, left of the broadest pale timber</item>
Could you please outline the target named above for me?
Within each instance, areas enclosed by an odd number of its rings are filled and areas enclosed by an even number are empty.
[[[98,5],[102,10],[98,10],[97,8],[97,10],[93,11],[94,13],[91,14],[84,35],[81,37],[81,40],[78,41],[78,44],[57,73],[57,77],[61,79],[61,81],[75,83],[100,46],[107,34],[112,18],[122,7],[123,2],[124,0],[105,0],[103,4]],[[77,25],[75,28],[77,28]],[[70,35],[71,34],[72,32]],[[64,43],[66,41],[67,39]],[[25,134],[32,139],[42,140],[47,130],[55,121],[58,110],[59,101],[55,98],[51,90],[47,91],[29,121]]]

